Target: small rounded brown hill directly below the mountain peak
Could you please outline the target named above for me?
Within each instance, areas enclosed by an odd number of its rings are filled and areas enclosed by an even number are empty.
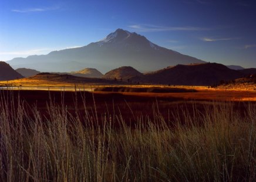
[[[111,70],[109,72],[107,72],[103,78],[111,78],[111,79],[120,79],[122,78],[122,80],[128,80],[132,77],[140,77],[143,74],[140,73],[139,71],[137,71],[136,69],[134,69],[133,67],[130,66],[122,66],[119,68],[116,68],[114,70]]]

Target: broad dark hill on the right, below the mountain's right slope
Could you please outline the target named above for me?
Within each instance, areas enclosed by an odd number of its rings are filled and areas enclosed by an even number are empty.
[[[133,81],[171,85],[214,85],[220,81],[234,80],[244,74],[217,63],[181,65],[167,67],[143,77],[134,77]]]

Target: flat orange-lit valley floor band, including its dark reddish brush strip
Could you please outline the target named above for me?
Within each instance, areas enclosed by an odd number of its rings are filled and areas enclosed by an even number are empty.
[[[123,89],[120,91],[101,91],[102,88],[119,88],[122,86]],[[139,92],[136,89],[146,88],[146,91]],[[151,88],[157,88],[158,92],[150,91]],[[149,91],[147,91],[147,89]],[[168,91],[170,90],[170,92]],[[149,98],[176,98],[181,100],[201,100],[201,101],[256,101],[256,91],[254,89],[227,89],[225,87],[219,88],[208,88],[206,86],[163,86],[163,85],[93,85],[93,84],[42,84],[42,85],[12,85],[6,87],[0,83],[0,90],[18,90],[23,91],[24,93],[29,93],[29,91],[57,91],[57,92],[74,92],[74,91],[90,91],[98,95],[105,95],[108,97],[108,94],[116,93],[117,95],[130,95],[134,97],[149,97]],[[128,91],[127,91],[128,90]],[[130,91],[129,91],[130,90]],[[135,90],[135,91],[133,91]],[[161,92],[161,90],[167,90]],[[174,91],[172,91],[174,90]],[[177,91],[175,91],[177,90]],[[178,91],[181,90],[181,91]],[[187,91],[182,91],[187,90]],[[191,90],[191,91],[190,91]],[[29,94],[28,94],[29,95]],[[41,97],[40,95],[36,96],[35,99]]]

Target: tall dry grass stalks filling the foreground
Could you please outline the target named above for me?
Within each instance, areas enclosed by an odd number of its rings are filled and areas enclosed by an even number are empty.
[[[185,121],[178,112],[165,121],[155,107],[131,128],[120,112],[97,118],[96,105],[89,114],[76,103],[71,115],[51,99],[46,117],[1,94],[0,181],[255,181],[253,104],[242,113],[216,102],[204,114],[195,105]]]

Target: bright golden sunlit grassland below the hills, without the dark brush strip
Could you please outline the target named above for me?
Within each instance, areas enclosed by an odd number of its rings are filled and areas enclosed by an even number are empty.
[[[210,88],[207,86],[167,86],[167,85],[145,85],[145,84],[132,84],[129,85],[125,82],[119,83],[105,83],[106,81],[93,83],[86,83],[83,80],[75,82],[74,80],[66,81],[65,78],[61,80],[49,80],[46,77],[36,80],[36,77],[22,78],[12,81],[0,81],[0,86],[8,85],[11,90],[50,90],[50,91],[94,91],[95,88],[103,87],[127,87],[127,88],[184,88],[187,90],[196,90],[197,92],[185,93],[139,93],[139,92],[122,92],[124,95],[140,95],[141,97],[176,97],[184,99],[220,99],[222,101],[256,101],[256,91],[254,90],[255,84],[246,88],[247,85],[240,85],[240,87],[224,87]],[[244,87],[242,87],[244,86]]]

